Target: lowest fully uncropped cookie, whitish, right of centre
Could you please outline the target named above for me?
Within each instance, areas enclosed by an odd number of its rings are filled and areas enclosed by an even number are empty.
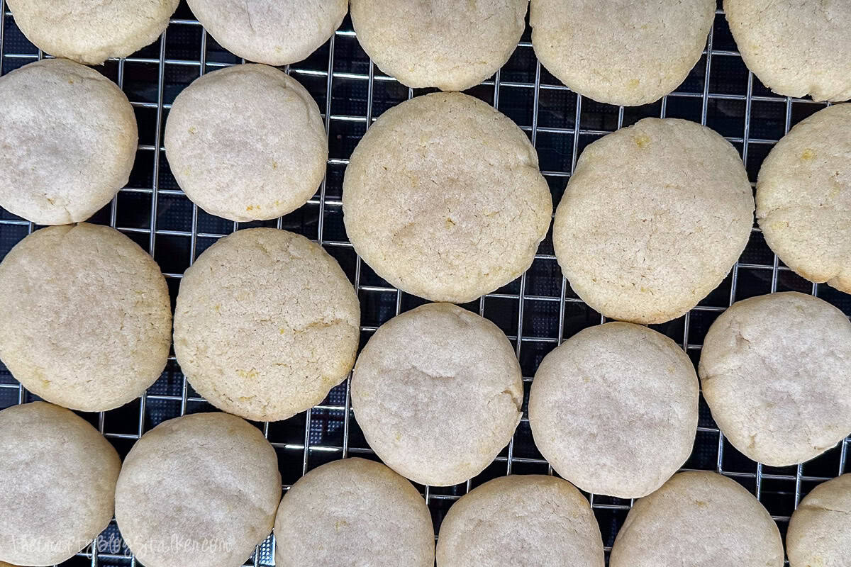
[[[529,394],[534,443],[586,492],[638,498],[694,445],[698,380],[688,354],[631,323],[589,327],[541,361]]]

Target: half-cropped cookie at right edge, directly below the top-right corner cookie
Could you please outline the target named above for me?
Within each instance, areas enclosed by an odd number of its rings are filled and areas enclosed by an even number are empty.
[[[757,220],[784,264],[851,293],[851,104],[816,112],[774,146],[759,170]]]

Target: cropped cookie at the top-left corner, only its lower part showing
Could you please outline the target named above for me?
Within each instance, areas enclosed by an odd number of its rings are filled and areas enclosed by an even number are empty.
[[[7,0],[14,23],[56,57],[100,65],[153,43],[179,0]],[[4,99],[5,100],[5,99]]]

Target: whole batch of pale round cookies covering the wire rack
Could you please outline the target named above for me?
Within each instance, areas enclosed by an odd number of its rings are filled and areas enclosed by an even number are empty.
[[[382,71],[447,91],[382,114],[346,169],[355,251],[393,286],[437,302],[387,321],[359,355],[357,294],[303,236],[260,228],[221,238],[183,275],[173,321],[153,259],[117,230],[83,222],[127,183],[138,139],[126,96],[83,64],[154,41],[176,0],[7,4],[26,37],[60,59],[0,78],[0,206],[51,225],[0,263],[0,358],[45,400],[0,411],[0,564],[60,563],[114,513],[147,567],[237,567],[271,530],[278,565],[603,567],[578,489],[638,499],[612,567],[784,564],[780,531],[757,498],[720,474],[677,471],[694,445],[701,388],[722,434],[754,461],[793,465],[842,442],[851,322],[797,292],[745,299],[711,325],[696,371],[643,325],[684,315],[719,285],[755,211],[780,260],[851,292],[851,104],[816,112],[775,145],[756,201],[719,134],[641,120],[583,150],[551,224],[526,134],[456,92],[505,64],[529,9],[535,54],[569,88],[615,105],[653,102],[700,59],[715,0],[351,0],[357,37]],[[216,41],[258,64],[210,72],[175,99],[164,131],[174,178],[223,218],[294,211],[322,183],[327,130],[306,89],[269,65],[305,59],[349,3],[189,5]],[[851,98],[851,0],[723,7],[768,88]],[[571,288],[617,320],[568,337],[535,374],[529,425],[562,478],[512,475],[469,490],[436,547],[408,479],[469,481],[523,417],[516,350],[454,303],[522,275],[550,229]],[[163,422],[122,465],[65,408],[107,411],[144,396],[172,342],[192,388],[227,413]],[[357,423],[386,464],[329,462],[282,500],[277,452],[244,419],[292,417],[350,371]],[[791,567],[851,565],[851,474],[802,500],[785,553]]]

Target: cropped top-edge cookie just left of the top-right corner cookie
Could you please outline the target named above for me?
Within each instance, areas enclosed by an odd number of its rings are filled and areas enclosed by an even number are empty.
[[[647,105],[671,93],[700,60],[715,0],[532,0],[541,65],[583,96]]]

